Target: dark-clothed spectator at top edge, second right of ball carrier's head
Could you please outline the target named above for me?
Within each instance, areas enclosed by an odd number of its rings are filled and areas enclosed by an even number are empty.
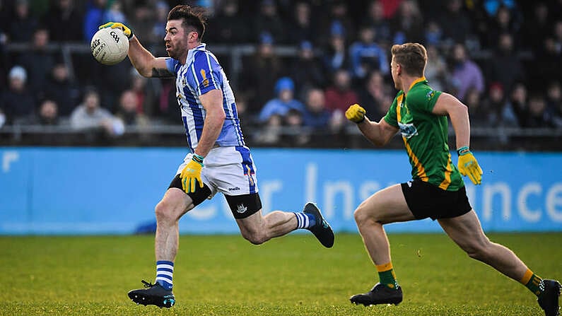
[[[259,32],[254,37],[259,38],[262,36],[262,33],[266,32],[273,37],[275,42],[285,42],[286,27],[283,26],[283,21],[279,14],[277,14],[277,5],[274,0],[261,0],[259,15],[255,16],[253,20],[253,30]],[[241,21],[239,20],[238,23],[241,23]]]

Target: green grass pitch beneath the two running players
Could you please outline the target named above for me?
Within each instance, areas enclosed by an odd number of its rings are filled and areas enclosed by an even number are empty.
[[[361,237],[325,249],[310,234],[264,245],[238,235],[180,239],[170,310],[127,291],[153,281],[151,236],[1,237],[0,315],[541,315],[520,283],[469,259],[445,235],[390,235],[398,306],[349,296],[377,281]],[[540,276],[562,279],[562,233],[494,234]]]

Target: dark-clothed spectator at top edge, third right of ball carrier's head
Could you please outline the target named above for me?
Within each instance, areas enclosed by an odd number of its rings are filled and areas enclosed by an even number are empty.
[[[312,23],[310,4],[308,4],[308,2],[298,1],[295,4],[292,20],[292,23],[289,25],[291,30],[289,44],[300,45],[301,42],[313,42],[314,44],[319,44],[317,41],[315,24]]]

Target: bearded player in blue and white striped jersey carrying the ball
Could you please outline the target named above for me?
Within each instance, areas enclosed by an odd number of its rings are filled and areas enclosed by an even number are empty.
[[[245,146],[233,91],[218,60],[201,42],[204,11],[185,5],[172,8],[164,37],[169,57],[154,57],[122,23],[110,22],[100,28],[124,31],[129,37],[129,59],[142,76],[175,76],[189,146],[168,191],[156,205],[156,282],[143,280],[145,288],[130,291],[131,300],[160,308],[175,304],[172,274],[178,222],[217,192],[226,197],[242,236],[255,245],[298,228],[310,230],[325,247],[334,245],[332,228],[315,204],[306,204],[302,212],[262,215],[256,167]]]

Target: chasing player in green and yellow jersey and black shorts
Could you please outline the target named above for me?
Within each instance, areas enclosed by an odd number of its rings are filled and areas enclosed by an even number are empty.
[[[346,111],[346,117],[356,122],[363,135],[377,146],[387,144],[400,131],[413,178],[376,192],[355,211],[359,232],[377,267],[380,282],[367,293],[353,295],[351,303],[366,306],[402,302],[402,288],[392,268],[390,245],[382,226],[432,218],[470,257],[529,288],[537,295],[546,316],[558,315],[560,283],[541,279],[515,253],[484,235],[462,180],[462,175],[467,175],[475,185],[482,180],[482,170],[469,150],[467,106],[428,85],[423,76],[426,63],[423,45],[392,46],[390,66],[394,87],[399,92],[387,115],[380,122],[371,122],[361,105],[351,105]],[[452,163],[447,145],[447,116],[455,130],[458,168]]]

